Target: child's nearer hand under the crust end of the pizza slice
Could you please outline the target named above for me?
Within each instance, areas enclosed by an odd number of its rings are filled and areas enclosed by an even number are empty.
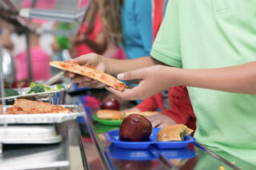
[[[171,70],[170,70],[171,69]],[[140,80],[138,86],[133,89],[125,89],[120,92],[114,88],[106,87],[111,93],[122,100],[141,100],[153,96],[164,89],[175,86],[173,80],[174,71],[169,66],[154,65],[144,69],[120,73],[118,78],[123,81]]]

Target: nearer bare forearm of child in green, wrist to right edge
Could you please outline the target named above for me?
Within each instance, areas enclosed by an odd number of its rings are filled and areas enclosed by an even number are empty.
[[[177,85],[256,93],[256,61],[219,69],[174,69],[170,74]]]

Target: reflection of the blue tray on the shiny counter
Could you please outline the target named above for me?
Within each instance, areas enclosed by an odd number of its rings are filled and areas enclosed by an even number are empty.
[[[106,152],[111,157],[120,160],[155,160],[159,158],[158,152],[154,148],[149,149],[125,149],[118,148],[114,144],[106,146]],[[190,148],[172,148],[172,149],[158,149],[158,151],[167,159],[187,159],[196,155]]]

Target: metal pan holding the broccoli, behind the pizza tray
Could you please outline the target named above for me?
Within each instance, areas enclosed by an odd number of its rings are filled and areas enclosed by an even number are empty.
[[[62,84],[65,89],[59,89],[57,90],[56,85],[50,85],[50,88],[56,89],[56,91],[50,91],[50,92],[43,92],[43,93],[31,93],[27,94],[30,91],[30,87],[26,88],[20,88],[20,89],[14,89],[18,91],[19,96],[13,96],[13,97],[4,97],[6,100],[6,103],[8,105],[13,105],[15,99],[28,99],[30,101],[44,101],[48,102],[54,105],[62,105],[64,103],[64,99],[66,97],[66,91],[70,89],[71,84]],[[2,97],[0,97],[0,100]]]

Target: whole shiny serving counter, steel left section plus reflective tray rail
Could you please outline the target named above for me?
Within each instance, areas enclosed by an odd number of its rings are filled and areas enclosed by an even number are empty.
[[[0,169],[256,169],[255,165],[198,143],[180,149],[118,148],[103,136],[104,131],[115,128],[99,125],[86,114],[84,124],[67,121],[58,125],[63,137],[60,144],[4,145]]]

